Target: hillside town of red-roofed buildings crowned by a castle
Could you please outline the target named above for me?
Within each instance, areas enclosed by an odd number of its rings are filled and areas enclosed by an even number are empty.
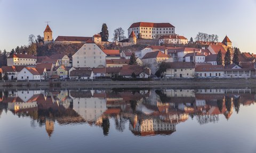
[[[217,35],[198,33],[196,41],[192,37],[188,41],[175,33],[171,23],[149,22],[132,23],[127,39],[115,33],[109,42],[105,33],[103,24],[101,33],[92,37],[58,36],[54,40],[47,24],[38,44],[79,44],[80,48],[73,54],[4,51],[0,80],[256,77],[256,55],[240,52],[228,36],[219,42]]]

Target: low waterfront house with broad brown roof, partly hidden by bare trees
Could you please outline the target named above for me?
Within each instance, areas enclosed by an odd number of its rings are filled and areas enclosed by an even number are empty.
[[[133,73],[137,78],[148,78],[151,74],[151,70],[148,68],[143,69],[139,65],[127,65],[121,68],[119,75],[125,78],[132,78]]]

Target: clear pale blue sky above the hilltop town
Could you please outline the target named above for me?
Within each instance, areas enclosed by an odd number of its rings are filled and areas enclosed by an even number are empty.
[[[0,50],[28,45],[28,36],[43,36],[49,26],[57,36],[91,37],[109,30],[109,40],[118,27],[133,22],[169,22],[175,33],[188,39],[198,32],[227,35],[242,52],[256,53],[256,0],[0,0]]]

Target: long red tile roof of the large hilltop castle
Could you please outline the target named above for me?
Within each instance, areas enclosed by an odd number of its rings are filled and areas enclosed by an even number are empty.
[[[130,28],[137,28],[137,27],[174,28],[174,26],[172,26],[170,23],[151,23],[151,22],[136,22],[136,23],[132,23],[132,25],[130,26]]]

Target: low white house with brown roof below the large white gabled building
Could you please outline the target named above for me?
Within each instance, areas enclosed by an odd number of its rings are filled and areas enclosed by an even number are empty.
[[[78,69],[70,71],[70,79],[93,79],[93,71],[91,69]]]

